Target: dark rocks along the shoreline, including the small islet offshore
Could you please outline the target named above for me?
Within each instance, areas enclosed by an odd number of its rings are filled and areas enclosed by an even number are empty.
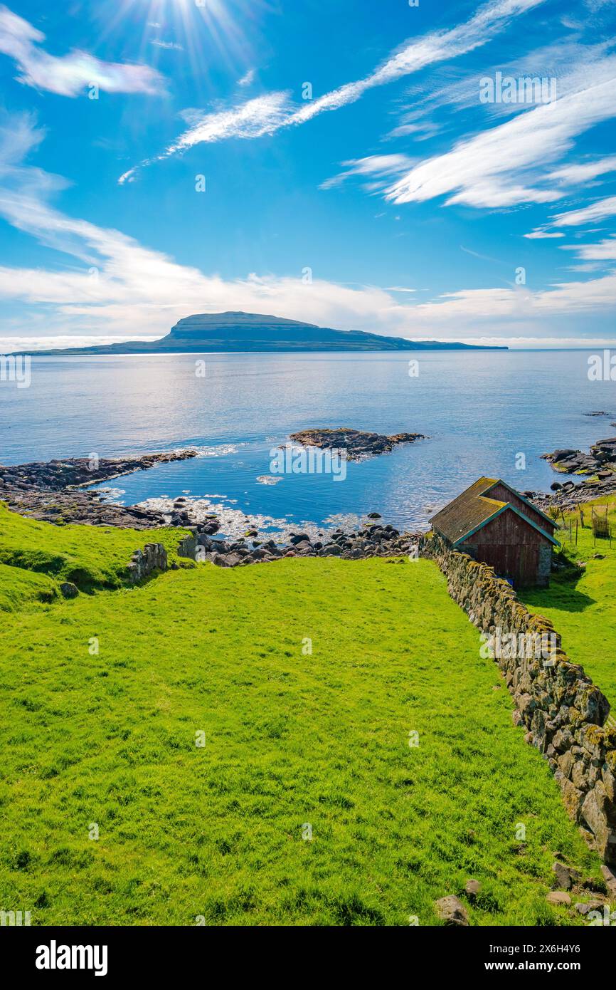
[[[357,430],[305,430],[292,435],[292,441],[308,446],[345,449],[351,460],[361,460],[393,449],[396,444],[412,443],[421,434],[388,437]],[[321,527],[304,524],[306,531],[294,532],[284,520],[248,517],[238,510],[212,506],[204,500],[180,496],[175,499],[149,499],[142,505],[121,506],[105,501],[101,490],[86,486],[111,481],[132,471],[147,470],[156,464],[195,457],[189,448],[132,457],[70,457],[63,460],[0,465],[0,500],[10,509],[48,523],[79,523],[89,526],[115,526],[151,530],[166,526],[188,529],[195,545],[193,556],[212,560],[221,566],[237,566],[279,559],[284,556],[340,556],[358,559],[370,556],[406,554],[416,543],[417,534],[400,534],[382,525],[381,517],[336,518]],[[523,494],[543,511],[557,507],[572,510],[578,503],[616,493],[616,438],[598,441],[589,453],[562,448],[544,454],[561,473],[585,470],[592,480],[582,484],[555,481],[550,494],[525,491]],[[232,517],[232,518],[231,518]],[[371,518],[372,517],[372,518]],[[298,524],[296,524],[297,526]],[[334,528],[336,527],[336,528]],[[268,530],[279,532],[271,534]],[[224,539],[213,540],[221,533]],[[230,535],[232,534],[232,536]],[[274,537],[275,539],[272,539]]]

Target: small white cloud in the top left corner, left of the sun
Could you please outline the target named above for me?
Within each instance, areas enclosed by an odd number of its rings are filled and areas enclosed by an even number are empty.
[[[17,79],[24,85],[59,96],[77,96],[90,85],[108,93],[164,92],[163,77],[149,65],[101,61],[78,50],[51,55],[41,47],[43,42],[41,31],[0,6],[0,52],[17,63]]]

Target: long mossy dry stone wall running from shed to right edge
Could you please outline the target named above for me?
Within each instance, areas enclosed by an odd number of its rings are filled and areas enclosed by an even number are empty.
[[[570,817],[603,861],[616,863],[616,729],[605,725],[607,699],[563,651],[552,623],[530,613],[492,567],[434,534],[420,540],[419,553],[436,561],[449,594],[484,633],[515,701],[514,722],[549,762]],[[522,642],[541,645],[516,648]]]

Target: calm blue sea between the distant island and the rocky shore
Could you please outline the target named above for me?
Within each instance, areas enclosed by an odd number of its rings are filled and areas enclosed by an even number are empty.
[[[415,527],[481,474],[548,490],[541,453],[616,435],[616,384],[588,381],[591,352],[205,354],[204,377],[194,354],[35,358],[30,388],[0,383],[0,462],[197,446],[194,460],[113,482],[113,497],[188,493],[294,526],[377,510]],[[344,481],[257,481],[290,433],[341,426],[429,439],[349,463]]]

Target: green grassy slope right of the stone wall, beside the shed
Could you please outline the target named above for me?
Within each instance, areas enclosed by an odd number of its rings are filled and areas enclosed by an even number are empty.
[[[590,506],[611,507],[609,519],[616,532],[616,499],[597,499],[583,506],[588,529],[577,530],[577,545],[571,543],[569,531],[557,533],[572,560],[584,560],[586,567],[577,580],[553,575],[550,588],[524,591],[520,597],[530,609],[547,616],[563,637],[563,648],[572,660],[581,663],[586,673],[612,704],[616,715],[616,540],[593,541]],[[569,519],[570,517],[568,517]],[[573,541],[575,519],[572,515]],[[593,560],[594,553],[604,554]]]

